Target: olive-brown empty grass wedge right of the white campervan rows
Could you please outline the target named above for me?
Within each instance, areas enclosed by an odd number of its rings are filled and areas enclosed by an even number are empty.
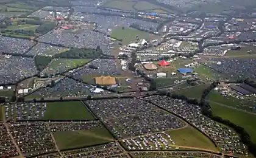
[[[218,151],[210,139],[192,126],[187,126],[186,128],[179,130],[168,131],[168,134],[176,143],[175,145],[184,146],[185,148],[186,146],[190,146],[205,150],[209,149],[212,151]]]

